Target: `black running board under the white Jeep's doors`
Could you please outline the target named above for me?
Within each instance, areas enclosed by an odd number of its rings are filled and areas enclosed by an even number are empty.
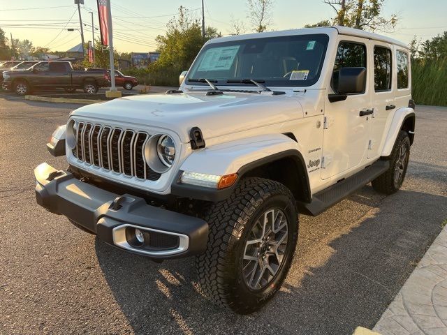
[[[351,177],[343,179],[337,182],[337,184],[314,194],[312,202],[309,204],[304,202],[298,203],[298,209],[302,214],[317,216],[359,188],[362,188],[373,179],[376,179],[376,177],[379,177],[388,168],[390,168],[389,161],[376,161],[367,168],[353,174]]]

